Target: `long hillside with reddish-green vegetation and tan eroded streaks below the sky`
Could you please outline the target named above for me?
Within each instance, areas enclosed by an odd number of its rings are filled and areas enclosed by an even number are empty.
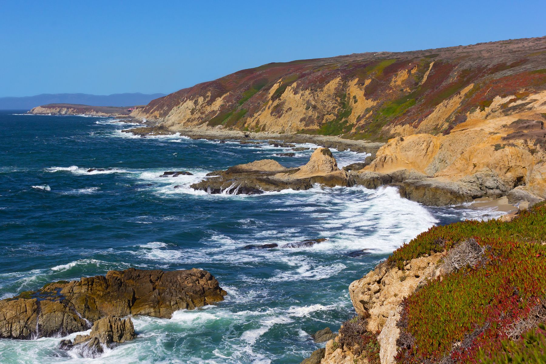
[[[165,127],[386,141],[448,134],[486,117],[496,98],[513,114],[545,89],[542,37],[269,63],[152,100],[139,116]]]

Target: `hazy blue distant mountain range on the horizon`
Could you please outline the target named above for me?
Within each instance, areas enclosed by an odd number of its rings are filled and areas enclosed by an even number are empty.
[[[134,106],[146,105],[153,99],[165,96],[164,93],[144,94],[113,93],[111,95],[91,95],[87,93],[43,93],[36,96],[0,97],[0,110],[30,110],[45,104],[82,104],[91,106]]]

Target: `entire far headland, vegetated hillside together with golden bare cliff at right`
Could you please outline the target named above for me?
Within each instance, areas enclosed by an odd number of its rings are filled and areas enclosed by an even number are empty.
[[[312,140],[370,152],[376,158],[353,171],[355,183],[394,184],[428,205],[546,198],[546,37],[269,63],[131,116],[153,126],[143,135]]]

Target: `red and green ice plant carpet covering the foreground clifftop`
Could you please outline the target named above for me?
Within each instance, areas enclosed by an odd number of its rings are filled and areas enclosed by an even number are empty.
[[[523,362],[544,356],[546,205],[511,222],[435,226],[388,259],[403,267],[425,254],[474,239],[482,258],[434,279],[403,303],[399,362]],[[500,359],[505,358],[505,359]],[[447,358],[446,358],[447,359]],[[538,360],[538,359],[535,359]]]

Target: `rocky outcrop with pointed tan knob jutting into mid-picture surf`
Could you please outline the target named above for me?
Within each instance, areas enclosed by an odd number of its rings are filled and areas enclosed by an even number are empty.
[[[210,177],[191,187],[212,194],[261,194],[288,188],[309,189],[314,183],[329,187],[350,184],[347,172],[337,168],[328,148],[318,148],[309,162],[300,168],[289,169],[275,160],[263,159],[211,172],[207,176]]]

